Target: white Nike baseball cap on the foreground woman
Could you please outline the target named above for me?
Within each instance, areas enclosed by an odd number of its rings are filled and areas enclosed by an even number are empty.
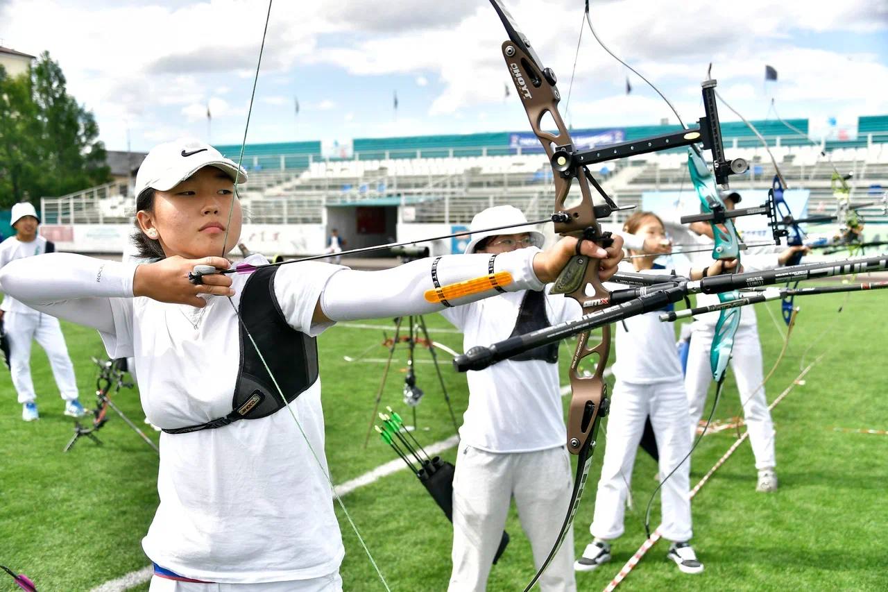
[[[136,173],[136,197],[147,188],[169,191],[208,165],[226,172],[236,183],[247,182],[247,172],[243,167],[222,156],[210,144],[180,138],[158,144],[145,156]]]

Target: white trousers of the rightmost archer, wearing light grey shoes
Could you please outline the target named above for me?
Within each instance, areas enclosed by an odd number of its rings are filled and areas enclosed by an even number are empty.
[[[706,404],[706,395],[712,383],[712,334],[711,325],[694,323],[685,374],[692,437],[703,416],[703,405]],[[774,458],[774,427],[762,385],[762,346],[758,341],[756,324],[741,324],[737,329],[733,338],[731,369],[734,380],[737,380],[737,391],[743,404],[743,418],[749,431],[749,444],[756,459],[756,468],[774,468],[777,465]],[[753,391],[753,388],[757,390]]]

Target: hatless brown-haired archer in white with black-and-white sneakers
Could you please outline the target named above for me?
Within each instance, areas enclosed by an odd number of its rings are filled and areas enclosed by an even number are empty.
[[[666,242],[662,220],[652,212],[633,213],[623,230],[646,242]],[[634,250],[630,253],[636,256],[631,266],[627,262],[621,264],[627,271],[662,273],[662,266],[654,265],[657,253],[648,255]],[[643,254],[646,256],[640,257]],[[736,260],[716,261],[705,269],[679,269],[678,274],[698,280],[735,266]],[[659,451],[660,531],[665,539],[672,541],[666,556],[681,572],[703,571],[703,564],[689,542],[693,534],[688,458],[692,437],[687,429],[685,383],[675,348],[675,330],[672,324],[658,320],[660,312],[633,316],[615,325],[616,383],[607,420],[595,516],[589,527],[593,539],[574,564],[579,572],[591,572],[610,561],[611,540],[624,532],[624,508],[630,494],[632,468],[648,417]]]

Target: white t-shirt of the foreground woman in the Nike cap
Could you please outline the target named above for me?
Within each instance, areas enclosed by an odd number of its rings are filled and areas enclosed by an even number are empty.
[[[246,261],[266,263],[261,255]],[[290,326],[310,335],[329,326],[312,325],[312,315],[339,269],[320,262],[278,268],[274,293]],[[233,276],[235,306],[248,277]],[[240,353],[238,321],[227,299],[211,297],[202,309],[144,297],[110,300],[115,333],[101,336],[109,356],[135,357],[148,420],[182,428],[231,412]],[[303,580],[337,571],[345,550],[324,475],[320,379],[289,406],[323,472],[286,409],[225,428],[161,434],[161,502],[142,540],[152,561],[221,583]]]

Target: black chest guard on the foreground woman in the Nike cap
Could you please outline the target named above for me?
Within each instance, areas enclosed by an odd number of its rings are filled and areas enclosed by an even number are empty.
[[[185,434],[201,429],[221,428],[237,420],[258,420],[284,408],[274,380],[291,403],[318,380],[317,340],[298,332],[284,320],[274,296],[274,274],[277,268],[261,268],[253,272],[241,293],[240,324],[241,365],[237,372],[232,406],[234,410],[218,420],[188,428],[164,429],[168,434]],[[272,376],[247,335],[265,357]]]

